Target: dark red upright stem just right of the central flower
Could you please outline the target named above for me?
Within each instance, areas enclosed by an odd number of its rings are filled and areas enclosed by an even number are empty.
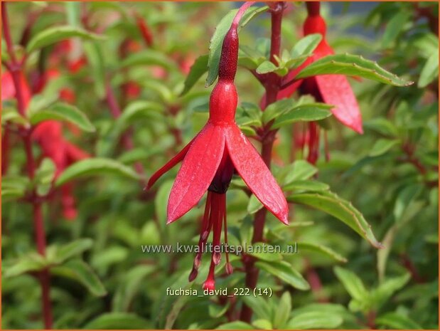
[[[279,51],[281,48],[281,21],[284,11],[284,2],[277,2],[271,9],[271,21],[272,21],[272,32],[271,32],[271,53],[270,60],[275,65],[278,65],[275,56],[279,56]],[[275,73],[269,74],[267,79],[264,79],[264,88],[266,90],[266,104],[264,108],[268,105],[277,101],[277,95],[281,85],[281,80],[279,76]],[[267,127],[270,127],[272,123],[269,123]],[[262,159],[266,163],[267,167],[270,169],[270,164],[272,161],[272,149],[274,147],[275,136],[277,134],[276,130],[264,130],[264,135],[262,135]],[[252,243],[257,243],[264,240],[264,224],[266,222],[267,209],[260,209],[255,214],[254,218],[254,235],[252,237]],[[255,288],[258,282],[259,270],[254,266],[254,258],[248,257],[245,260],[245,285],[247,288]],[[244,322],[250,322],[252,318],[252,308],[247,305],[243,305],[242,311],[240,313],[240,320]]]

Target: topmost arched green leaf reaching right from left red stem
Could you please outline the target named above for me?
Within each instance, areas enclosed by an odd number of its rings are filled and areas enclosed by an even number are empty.
[[[34,36],[31,41],[29,41],[28,46],[26,46],[26,51],[31,53],[38,48],[43,48],[50,44],[58,43],[58,41],[73,37],[88,40],[98,40],[103,38],[95,33],[85,31],[82,28],[75,28],[74,26],[54,26],[52,28],[46,28]]]

